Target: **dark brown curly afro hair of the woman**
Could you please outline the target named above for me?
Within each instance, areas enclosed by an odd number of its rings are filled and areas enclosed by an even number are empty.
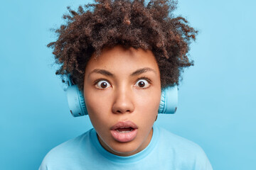
[[[60,66],[56,74],[63,82],[70,74],[82,90],[92,54],[98,57],[103,48],[122,45],[151,50],[159,65],[161,87],[178,85],[183,68],[193,65],[187,53],[198,31],[185,18],[174,17],[176,5],[174,0],[148,4],[144,0],[95,0],[77,11],[68,6],[65,24],[55,29],[58,39],[47,45]]]

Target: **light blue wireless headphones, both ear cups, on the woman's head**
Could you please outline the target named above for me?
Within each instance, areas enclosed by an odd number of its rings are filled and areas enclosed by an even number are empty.
[[[68,77],[68,106],[70,113],[74,117],[87,115],[87,108],[85,106],[85,98],[82,91],[78,89],[78,85]],[[178,105],[178,89],[177,86],[168,86],[161,90],[161,101],[158,113],[174,114]]]

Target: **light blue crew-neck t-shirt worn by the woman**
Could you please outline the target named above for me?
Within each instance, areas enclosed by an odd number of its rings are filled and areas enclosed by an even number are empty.
[[[149,145],[129,157],[119,157],[100,145],[95,129],[68,140],[46,154],[39,170],[176,169],[211,170],[203,149],[194,142],[153,126]]]

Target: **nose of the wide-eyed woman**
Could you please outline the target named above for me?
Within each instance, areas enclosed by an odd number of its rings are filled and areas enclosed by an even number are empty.
[[[112,112],[132,113],[133,111],[134,104],[132,100],[132,91],[129,91],[128,89],[118,89],[115,93]]]

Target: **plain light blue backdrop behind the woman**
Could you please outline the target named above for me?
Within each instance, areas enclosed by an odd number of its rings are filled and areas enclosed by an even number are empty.
[[[55,76],[55,40],[66,6],[87,1],[4,1],[0,6],[0,166],[38,169],[46,153],[92,127],[73,118]],[[213,169],[254,169],[255,1],[180,0],[177,14],[200,33],[191,45],[175,115],[157,124],[198,143]]]

